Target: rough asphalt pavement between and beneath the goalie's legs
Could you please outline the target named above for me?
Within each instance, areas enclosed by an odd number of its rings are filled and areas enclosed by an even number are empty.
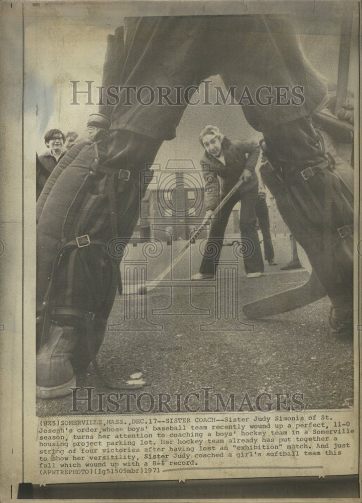
[[[308,409],[352,405],[353,344],[329,335],[327,298],[258,320],[242,312],[243,304],[308,279],[305,269],[280,270],[290,258],[288,236],[274,240],[278,265],[266,263],[260,278],[247,279],[237,249],[225,246],[217,280],[191,282],[200,264],[196,242],[163,284],[148,295],[127,294],[140,278],[155,279],[184,244],[130,247],[122,265],[124,294],[116,295],[97,356],[108,381],[122,387],[133,376],[131,382],[145,383],[137,395],[186,395],[209,387],[225,396],[302,393]],[[92,366],[77,377],[77,385],[81,390],[94,387],[94,393],[114,391]],[[79,405],[81,412],[85,408]],[[71,395],[37,401],[40,416],[69,414],[71,409]],[[137,411],[133,405],[131,409]]]

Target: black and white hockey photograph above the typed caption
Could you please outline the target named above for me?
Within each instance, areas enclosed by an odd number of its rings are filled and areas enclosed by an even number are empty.
[[[351,407],[353,9],[112,13],[77,27],[74,74],[77,18],[29,26],[38,414],[85,387],[104,412],[204,387]]]

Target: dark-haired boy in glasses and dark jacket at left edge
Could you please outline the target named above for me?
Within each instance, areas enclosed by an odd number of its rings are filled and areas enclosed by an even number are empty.
[[[44,142],[48,150],[43,155],[37,155],[37,200],[49,175],[64,155],[65,136],[60,129],[50,129],[45,133]]]

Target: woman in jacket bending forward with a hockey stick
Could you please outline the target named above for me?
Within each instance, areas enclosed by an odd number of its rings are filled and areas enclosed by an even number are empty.
[[[247,278],[258,278],[264,272],[255,213],[259,188],[255,167],[259,158],[259,145],[254,141],[230,141],[220,133],[218,127],[211,125],[201,130],[200,142],[205,149],[201,159],[205,179],[205,219],[210,217],[219,200],[226,196],[240,177],[244,179],[244,183],[212,220],[200,272],[192,279],[203,280],[215,275],[227,221],[238,201],[242,205],[240,232],[245,271]]]

